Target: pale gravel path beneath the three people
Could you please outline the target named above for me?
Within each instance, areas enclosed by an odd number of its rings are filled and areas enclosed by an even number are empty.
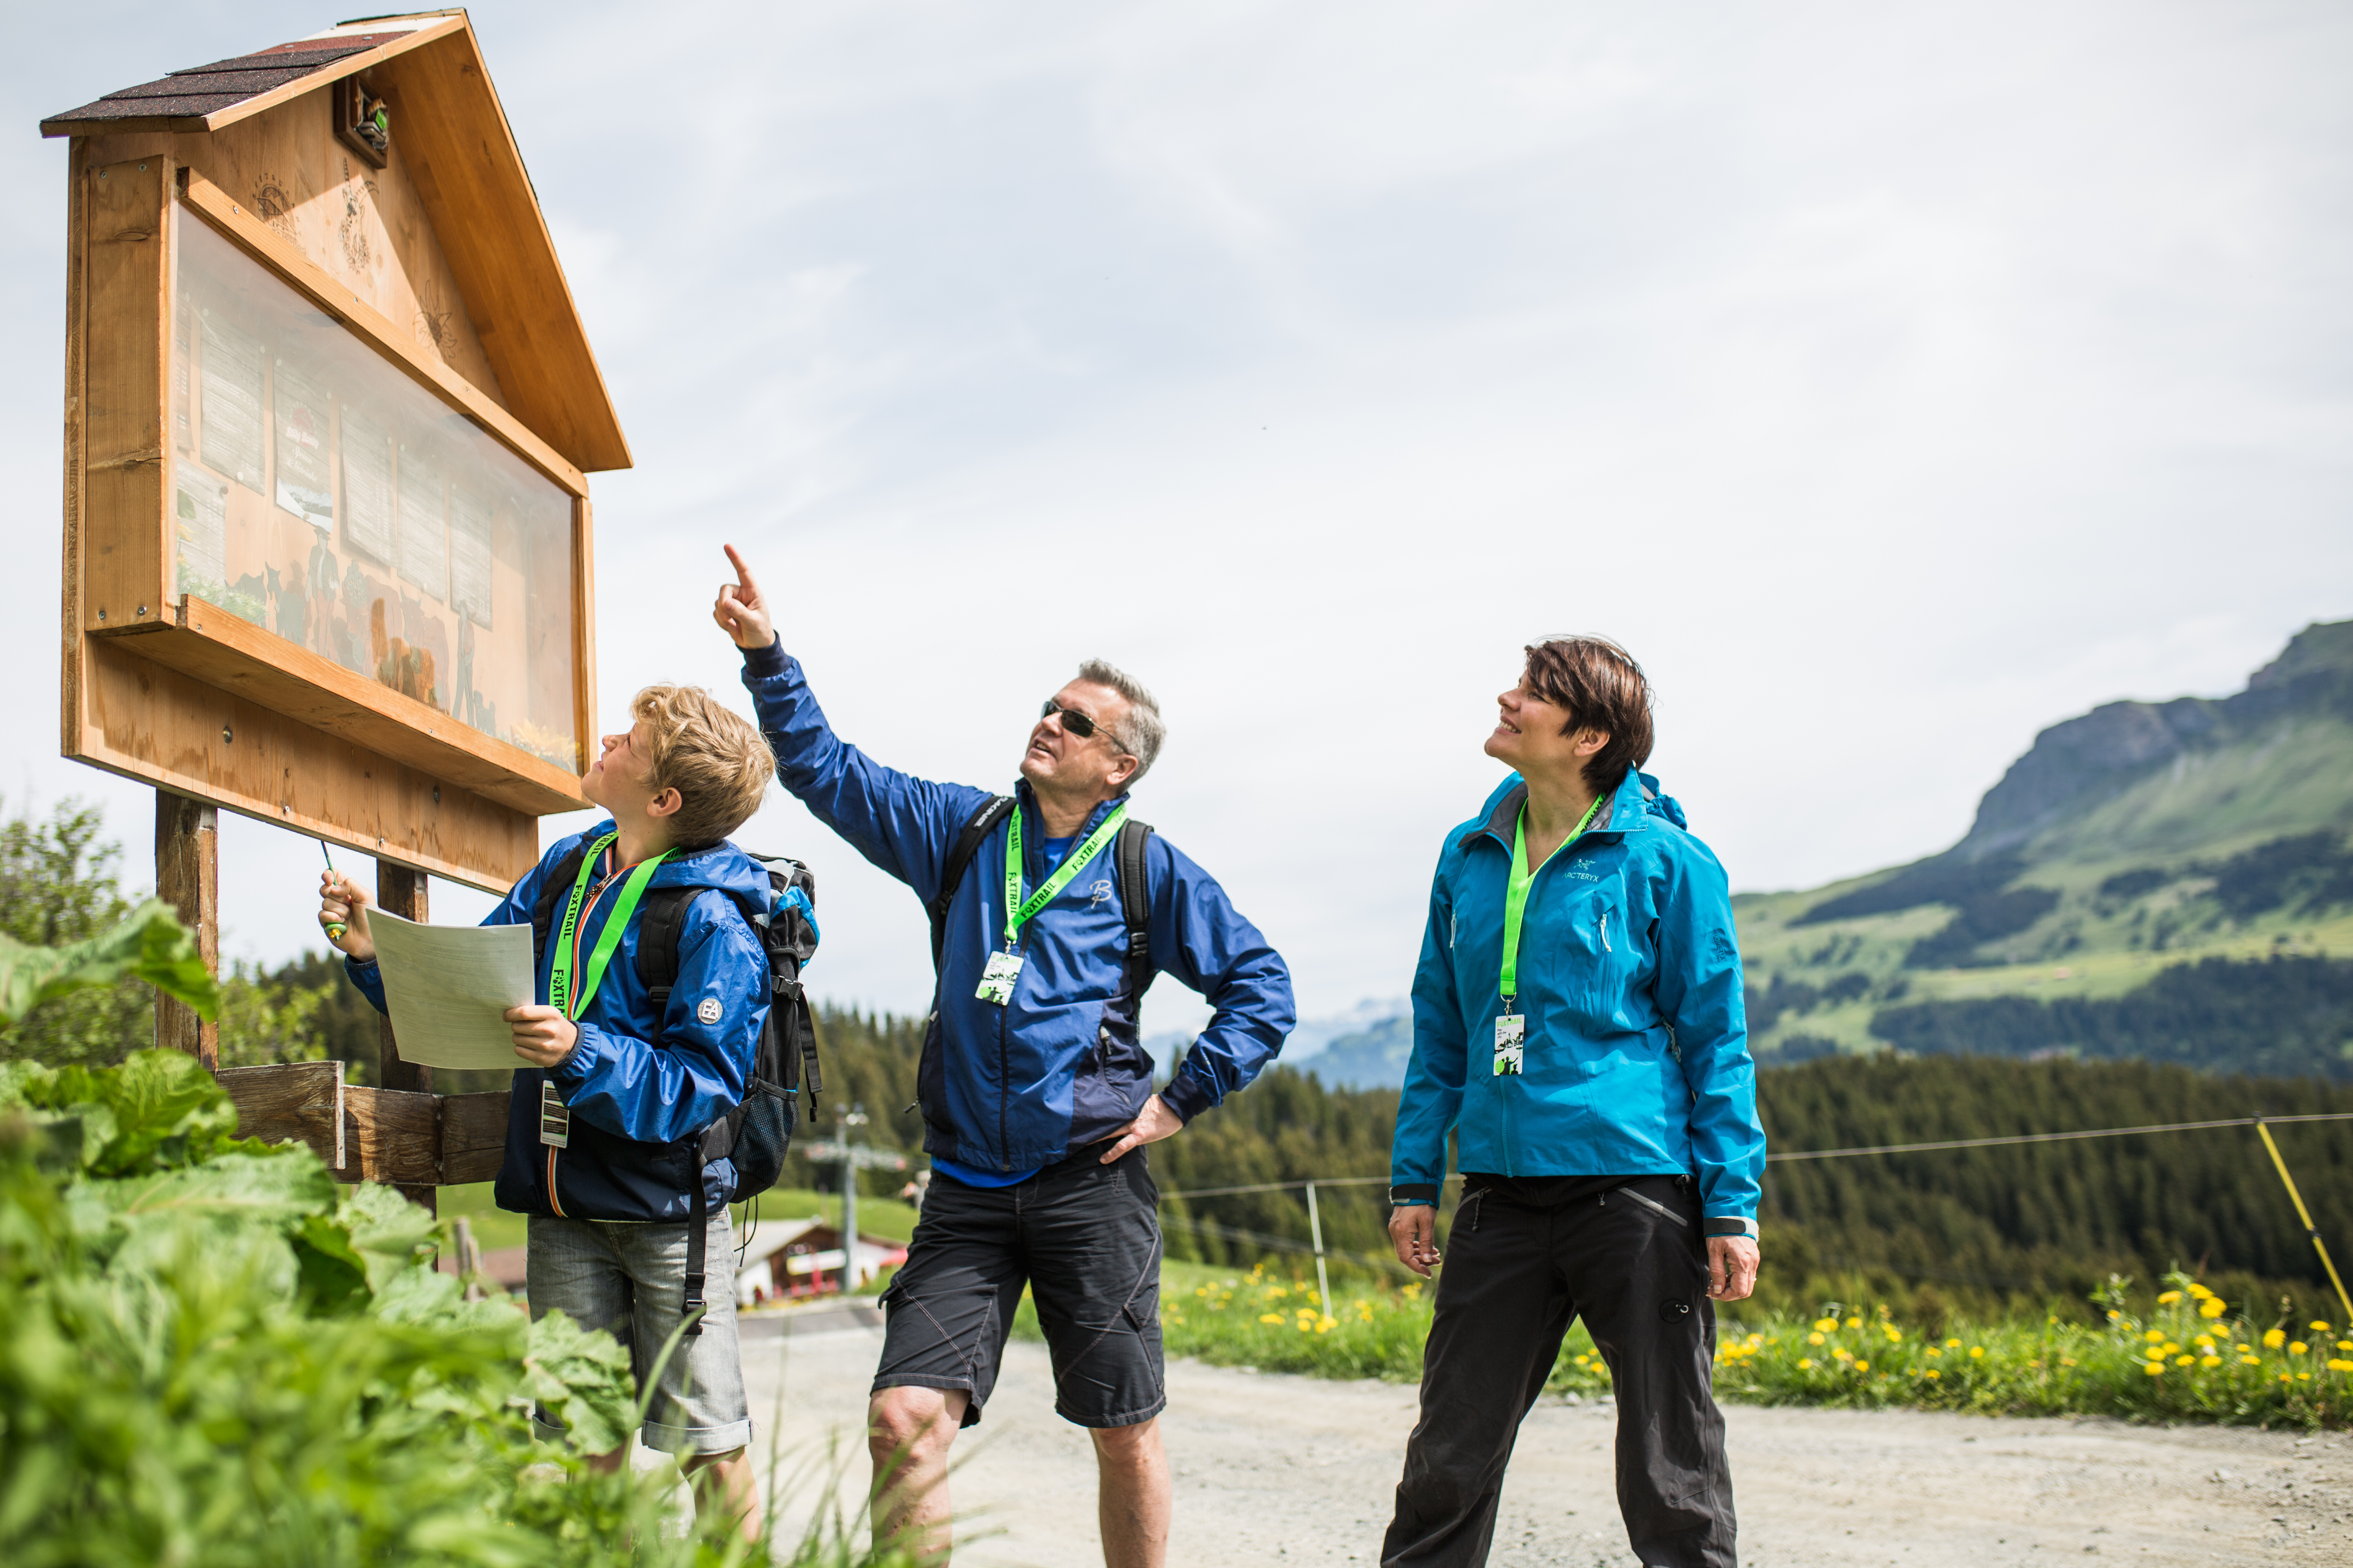
[[[786,1467],[849,1460],[864,1488],[866,1382],[882,1335],[849,1328],[751,1340],[753,1415]],[[1751,1568],[1998,1568],[2005,1563],[2353,1563],[2353,1439],[2104,1420],[1986,1420],[1908,1410],[1727,1406],[1741,1561]],[[1612,1493],[1605,1403],[1546,1399],[1520,1429],[1499,1568],[1633,1568]],[[1388,1523],[1414,1389],[1169,1366],[1162,1418],[1176,1469],[1169,1561],[1372,1563]],[[955,1502],[979,1514],[965,1568],[1092,1568],[1094,1460],[1052,1410],[1042,1345],[1014,1342],[988,1420],[958,1441]],[[802,1469],[802,1474],[812,1474]],[[791,1490],[791,1486],[786,1488]],[[807,1519],[821,1488],[802,1486]]]

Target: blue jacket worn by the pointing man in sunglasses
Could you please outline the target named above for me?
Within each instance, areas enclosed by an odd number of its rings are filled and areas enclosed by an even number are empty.
[[[744,684],[784,788],[929,905],[988,790],[911,778],[838,738],[800,663],[781,646],[746,651]],[[1028,783],[1014,795],[1026,884],[1035,889],[1047,875],[1038,851],[1045,827]],[[1080,835],[1094,832],[1118,804],[1104,802]],[[1007,823],[998,823],[948,910],[939,1013],[925,1037],[915,1095],[925,1152],[1009,1173],[1054,1164],[1134,1121],[1153,1093],[1153,1060],[1136,1039],[1134,1009],[1120,997],[1127,922],[1111,853],[1024,926],[1012,1004],[974,997],[988,954],[1005,945],[1005,839]],[[1217,1009],[1160,1091],[1191,1121],[1249,1084],[1282,1048],[1294,1023],[1292,978],[1226,891],[1158,832],[1146,879],[1153,969]]]

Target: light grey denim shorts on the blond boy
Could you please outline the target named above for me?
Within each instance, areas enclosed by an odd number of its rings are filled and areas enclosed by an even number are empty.
[[[565,1312],[628,1347],[645,1399],[647,1373],[687,1305],[687,1222],[558,1220],[532,1215],[532,1316]],[[645,1410],[645,1446],[661,1453],[734,1453],[751,1443],[744,1354],[734,1326],[734,1227],[711,1215],[704,1251],[704,1331],[678,1340]],[[546,1410],[532,1425],[548,1441],[562,1427]]]

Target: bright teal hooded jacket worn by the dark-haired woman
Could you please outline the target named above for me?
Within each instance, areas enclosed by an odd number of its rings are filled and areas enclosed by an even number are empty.
[[[1732,898],[1659,780],[1628,769],[1607,816],[1537,872],[1520,926],[1525,1063],[1494,1074],[1525,799],[1513,773],[1438,856],[1391,1150],[1398,1197],[1435,1199],[1452,1131],[1461,1171],[1689,1173],[1706,1218],[1755,1220],[1765,1128]]]

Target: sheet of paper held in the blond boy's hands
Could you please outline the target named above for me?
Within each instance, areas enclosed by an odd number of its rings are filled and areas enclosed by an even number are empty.
[[[527,1065],[504,1013],[536,999],[529,926],[419,926],[369,910],[367,929],[400,1060],[501,1072]]]

